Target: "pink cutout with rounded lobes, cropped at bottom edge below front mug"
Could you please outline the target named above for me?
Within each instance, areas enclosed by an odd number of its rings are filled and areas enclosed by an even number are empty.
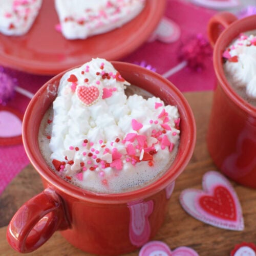
[[[186,246],[181,246],[171,251],[169,246],[160,241],[152,241],[145,244],[139,252],[139,256],[198,256],[198,253]]]

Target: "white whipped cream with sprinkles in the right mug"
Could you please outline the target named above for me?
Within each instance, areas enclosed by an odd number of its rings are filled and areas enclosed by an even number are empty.
[[[236,88],[244,88],[247,97],[256,99],[256,36],[240,35],[223,57],[227,58],[224,70],[231,84]]]

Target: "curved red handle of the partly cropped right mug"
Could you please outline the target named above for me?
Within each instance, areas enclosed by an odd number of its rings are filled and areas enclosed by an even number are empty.
[[[212,16],[208,22],[207,34],[212,48],[224,29],[237,20],[237,16],[230,12],[220,12]]]

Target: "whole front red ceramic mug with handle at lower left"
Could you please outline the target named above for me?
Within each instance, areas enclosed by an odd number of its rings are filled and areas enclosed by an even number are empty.
[[[12,218],[7,239],[15,250],[31,252],[60,230],[68,242],[83,251],[116,255],[138,249],[161,227],[175,180],[194,151],[194,116],[181,92],[165,78],[130,63],[112,63],[127,81],[178,107],[181,138],[175,161],[152,184],[125,193],[97,194],[62,180],[42,157],[37,138],[42,116],[55,99],[65,72],[55,76],[36,93],[24,116],[25,150],[45,190]]]

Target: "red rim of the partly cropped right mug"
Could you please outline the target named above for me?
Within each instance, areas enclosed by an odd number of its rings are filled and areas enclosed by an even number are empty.
[[[214,47],[214,68],[222,89],[240,110],[256,117],[256,108],[240,97],[230,86],[223,69],[223,52],[241,33],[256,30],[256,15],[238,19],[227,27],[219,36]]]

